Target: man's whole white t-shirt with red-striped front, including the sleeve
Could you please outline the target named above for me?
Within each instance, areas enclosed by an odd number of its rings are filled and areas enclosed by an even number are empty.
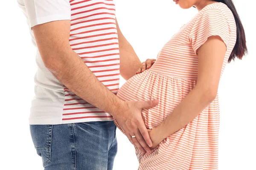
[[[93,74],[114,94],[119,89],[119,45],[113,0],[17,0],[29,28],[56,20],[71,20],[70,46]],[[31,31],[31,29],[30,29]],[[32,34],[32,42],[36,46]],[[37,46],[36,46],[37,47]],[[111,121],[61,84],[44,66],[37,50],[35,98],[31,125]],[[90,80],[84,80],[84,82]]]

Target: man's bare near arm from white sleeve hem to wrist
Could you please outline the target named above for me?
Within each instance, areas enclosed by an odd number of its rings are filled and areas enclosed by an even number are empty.
[[[39,53],[51,73],[77,96],[114,115],[122,101],[106,88],[70,47],[70,20],[32,27]]]

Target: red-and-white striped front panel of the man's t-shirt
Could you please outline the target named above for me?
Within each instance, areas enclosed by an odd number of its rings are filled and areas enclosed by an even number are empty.
[[[119,45],[113,0],[70,0],[70,46],[113,93],[119,90]],[[90,81],[90,80],[84,80]],[[112,116],[64,87],[63,123],[107,121]]]

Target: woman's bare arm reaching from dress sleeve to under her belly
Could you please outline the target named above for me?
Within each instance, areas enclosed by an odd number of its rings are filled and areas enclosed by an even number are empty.
[[[150,136],[153,148],[197,117],[216,97],[226,45],[219,36],[209,37],[198,49],[198,81],[195,88]]]

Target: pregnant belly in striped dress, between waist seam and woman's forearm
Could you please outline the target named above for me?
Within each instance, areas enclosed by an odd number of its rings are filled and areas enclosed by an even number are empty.
[[[186,83],[186,88],[183,88]],[[159,104],[153,108],[142,110],[143,120],[147,128],[157,127],[182,99],[192,90],[195,82],[146,70],[131,77],[117,93],[124,101],[146,101],[158,99]]]

